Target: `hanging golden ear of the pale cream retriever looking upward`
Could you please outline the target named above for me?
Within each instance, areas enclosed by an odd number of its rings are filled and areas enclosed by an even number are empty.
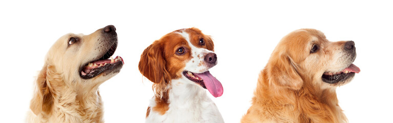
[[[39,113],[48,113],[52,109],[53,89],[47,79],[48,73],[50,73],[48,69],[48,66],[45,65],[39,72],[36,80],[37,92],[30,102],[30,109],[36,115]]]

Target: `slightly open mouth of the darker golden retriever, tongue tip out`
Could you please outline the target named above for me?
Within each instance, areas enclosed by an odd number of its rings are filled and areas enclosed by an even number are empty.
[[[340,72],[325,72],[322,74],[322,81],[328,84],[336,84],[343,82],[355,76],[355,73],[359,73],[360,69],[354,64],[350,64],[347,68]]]

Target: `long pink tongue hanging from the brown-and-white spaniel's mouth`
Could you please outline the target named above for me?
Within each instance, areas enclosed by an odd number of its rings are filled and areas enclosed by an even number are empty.
[[[209,71],[206,71],[204,73],[194,73],[194,74],[196,74],[197,76],[199,76],[203,79],[203,83],[204,83],[206,89],[208,89],[209,92],[214,97],[219,97],[222,95],[222,93],[224,92],[224,89],[222,88],[220,81],[218,81],[216,77],[214,77],[212,74],[210,74]]]

